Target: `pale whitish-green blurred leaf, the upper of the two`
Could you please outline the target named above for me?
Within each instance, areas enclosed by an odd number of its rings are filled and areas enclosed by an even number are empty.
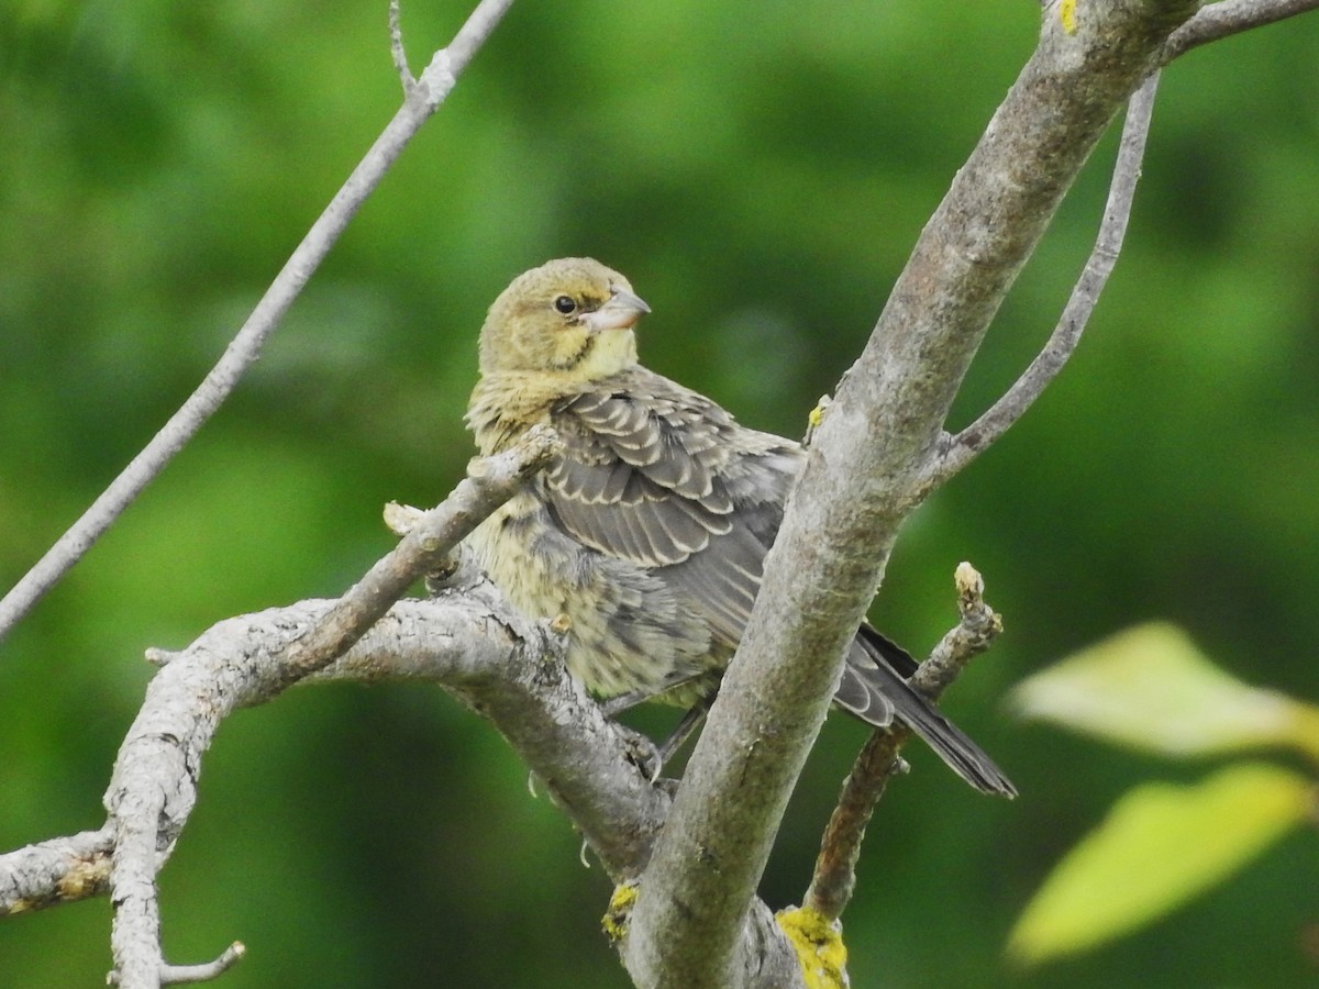
[[[1166,622],[1057,663],[1024,680],[1013,702],[1026,717],[1165,756],[1291,745],[1319,761],[1319,708],[1242,683]]]

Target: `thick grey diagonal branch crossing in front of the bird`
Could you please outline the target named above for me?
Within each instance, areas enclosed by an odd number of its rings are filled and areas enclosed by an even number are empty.
[[[1091,4],[1075,34],[1046,15],[811,446],[640,886],[624,943],[638,986],[745,984],[747,903],[952,397],[1089,150],[1196,5]]]

